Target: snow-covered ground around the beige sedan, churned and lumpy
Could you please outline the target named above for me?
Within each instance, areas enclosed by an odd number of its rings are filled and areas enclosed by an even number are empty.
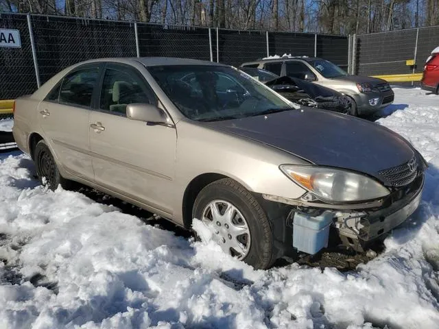
[[[439,328],[439,97],[395,88],[378,121],[429,162],[423,202],[355,271],[254,271],[0,155],[0,328]]]

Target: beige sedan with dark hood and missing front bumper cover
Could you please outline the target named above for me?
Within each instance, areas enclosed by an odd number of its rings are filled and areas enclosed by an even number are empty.
[[[296,106],[233,67],[75,64],[16,99],[14,138],[50,188],[81,182],[213,239],[255,268],[361,251],[416,210],[425,160],[401,136]]]

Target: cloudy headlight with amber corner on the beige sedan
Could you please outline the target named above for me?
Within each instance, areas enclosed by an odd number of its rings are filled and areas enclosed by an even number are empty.
[[[283,164],[280,168],[288,178],[323,201],[355,202],[389,194],[379,182],[351,171],[293,164]]]

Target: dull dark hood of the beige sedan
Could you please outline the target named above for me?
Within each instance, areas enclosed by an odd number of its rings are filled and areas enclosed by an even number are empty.
[[[313,164],[359,171],[378,179],[378,171],[399,166],[415,154],[401,136],[377,123],[311,108],[205,124]]]

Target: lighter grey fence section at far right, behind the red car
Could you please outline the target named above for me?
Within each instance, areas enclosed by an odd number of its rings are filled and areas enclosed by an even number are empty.
[[[439,26],[359,35],[355,43],[357,74],[422,73],[425,60],[439,46]],[[414,65],[407,65],[407,60],[414,60]]]

